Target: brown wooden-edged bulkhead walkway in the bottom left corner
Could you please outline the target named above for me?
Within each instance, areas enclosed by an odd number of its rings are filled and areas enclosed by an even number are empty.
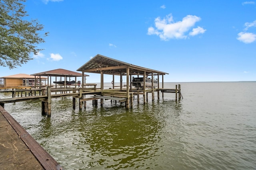
[[[63,170],[64,168],[0,106],[0,169]]]

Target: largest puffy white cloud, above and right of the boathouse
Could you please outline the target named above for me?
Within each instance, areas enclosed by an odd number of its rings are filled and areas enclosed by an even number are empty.
[[[161,20],[160,17],[155,19],[155,27],[148,28],[148,35],[158,35],[160,39],[168,41],[169,39],[186,39],[188,35],[186,33],[195,25],[196,22],[200,21],[201,18],[198,16],[187,15],[182,18],[182,21],[174,22],[172,14],[169,14]],[[198,33],[204,33],[206,30],[197,27],[192,31],[191,34],[196,35]]]

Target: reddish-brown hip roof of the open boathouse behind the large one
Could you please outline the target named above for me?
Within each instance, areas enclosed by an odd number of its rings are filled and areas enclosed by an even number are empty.
[[[39,72],[36,74],[31,74],[31,75],[32,76],[33,75],[35,75],[35,76],[56,76],[56,77],[64,77],[64,76],[66,76],[66,77],[81,77],[82,73],[58,68],[55,70]],[[84,76],[89,76],[89,75],[84,74]]]

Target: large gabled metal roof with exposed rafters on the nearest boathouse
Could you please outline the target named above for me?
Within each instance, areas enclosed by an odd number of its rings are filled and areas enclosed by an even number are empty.
[[[102,70],[104,74],[120,75],[122,73],[123,75],[125,75],[124,73],[126,73],[127,68],[130,69],[130,75],[143,75],[144,71],[146,71],[146,75],[150,75],[152,73],[160,75],[168,74],[166,72],[152,70],[149,68],[144,68],[119,60],[111,59],[109,57],[99,54],[90,59],[80,68],[78,68],[77,71],[100,73],[100,71]]]

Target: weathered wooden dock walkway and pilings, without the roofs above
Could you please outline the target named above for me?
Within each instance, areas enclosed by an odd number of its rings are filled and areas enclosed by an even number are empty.
[[[90,85],[91,86],[91,85]],[[143,95],[144,103],[148,102],[148,93],[152,94],[152,100],[154,100],[154,92],[157,92],[158,99],[160,98],[160,92],[162,97],[164,93],[175,93],[176,100],[180,100],[181,88],[180,84],[176,85],[176,88],[147,88],[147,89],[136,89],[131,88],[129,92],[120,89],[97,89],[96,84],[94,88],[51,88],[48,86],[43,89],[14,89],[0,92],[12,93],[12,98],[0,99],[0,106],[4,107],[6,103],[24,102],[31,100],[40,100],[42,102],[42,115],[51,116],[51,99],[61,97],[72,97],[73,98],[73,109],[76,107],[76,98],[79,100],[79,109],[86,108],[86,101],[92,100],[92,105],[98,105],[98,99],[100,99],[100,106],[103,106],[103,100],[114,100],[118,102],[129,102],[130,107],[133,106],[134,96]],[[25,94],[24,94],[25,93]],[[22,95],[23,94],[23,95]],[[88,96],[89,95],[89,96]],[[127,105],[126,105],[127,106]],[[128,109],[128,107],[126,107]]]

